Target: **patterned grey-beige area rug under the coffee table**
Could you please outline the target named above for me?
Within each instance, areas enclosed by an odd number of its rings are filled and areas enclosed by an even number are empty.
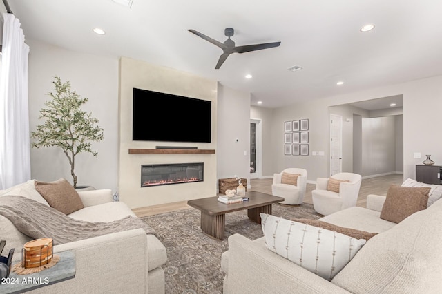
[[[273,204],[272,214],[287,219],[321,217],[311,204]],[[222,293],[221,254],[229,249],[227,238],[235,233],[251,240],[262,237],[260,224],[251,222],[247,211],[226,214],[224,240],[202,233],[200,216],[200,211],[192,208],[142,218],[166,247],[163,269],[167,294]]]

